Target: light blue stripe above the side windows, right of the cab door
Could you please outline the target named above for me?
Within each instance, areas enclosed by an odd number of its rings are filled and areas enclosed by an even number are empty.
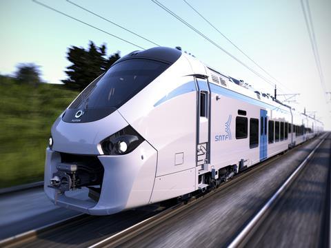
[[[245,101],[246,103],[258,105],[260,107],[265,107],[265,108],[269,108],[269,109],[272,109],[272,110],[278,109],[281,112],[290,113],[289,111],[281,110],[279,107],[270,105],[268,103],[263,103],[261,101],[258,101],[257,99],[252,99],[249,96],[245,96],[243,94],[233,92],[232,90],[225,89],[225,88],[223,88],[219,85],[214,85],[213,83],[210,83],[210,90],[213,93],[222,94],[223,96],[228,96],[228,97],[231,97],[232,99],[238,99],[238,100],[241,100],[241,101]]]

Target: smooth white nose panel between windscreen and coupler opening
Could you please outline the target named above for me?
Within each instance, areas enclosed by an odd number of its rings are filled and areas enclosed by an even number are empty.
[[[69,154],[103,154],[100,141],[128,126],[118,111],[98,121],[67,123],[61,117],[52,127],[52,150]]]

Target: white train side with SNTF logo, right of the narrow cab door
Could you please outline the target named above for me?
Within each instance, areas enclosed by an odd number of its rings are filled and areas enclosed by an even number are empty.
[[[285,134],[285,127],[291,123],[292,115],[290,110],[285,107],[275,107],[265,103],[260,103],[256,99],[250,99],[237,92],[225,89],[219,85],[210,84],[212,89],[212,124],[211,124],[211,166],[217,169],[228,165],[238,165],[243,159],[243,166],[251,166],[259,163],[265,158],[279,154],[288,149],[292,143],[291,136]],[[218,100],[217,100],[218,99]],[[261,110],[267,112],[267,125],[265,119],[261,123]],[[245,115],[240,114],[245,113]],[[247,130],[245,137],[239,137],[239,131],[236,127],[237,118],[246,119]],[[254,119],[254,120],[252,120]],[[258,143],[251,141],[254,135],[250,137],[251,121],[258,121]],[[269,142],[269,125],[268,122],[279,122],[278,140],[275,141],[275,127],[271,143]],[[282,124],[281,124],[282,123]],[[287,123],[285,125],[285,123]],[[262,127],[263,125],[263,127]],[[281,125],[283,126],[281,128]],[[228,128],[230,127],[230,128]],[[283,134],[281,134],[281,130]],[[261,136],[261,133],[266,136]],[[256,137],[256,136],[255,136]],[[266,138],[263,141],[261,138]],[[266,143],[267,155],[261,156],[261,145]]]

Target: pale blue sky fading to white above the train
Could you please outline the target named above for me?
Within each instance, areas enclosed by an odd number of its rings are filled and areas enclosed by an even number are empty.
[[[142,48],[155,46],[66,0],[40,1]],[[298,93],[297,103],[288,104],[301,112],[304,107],[308,113],[316,111],[325,130],[331,130],[331,101],[326,103],[300,0],[187,0],[273,79],[184,1],[159,0],[270,83],[150,0],[72,1],[154,43],[170,48],[180,46],[203,63],[225,75],[243,79],[260,92],[273,94],[273,84],[276,83],[279,94]],[[326,91],[331,92],[331,1],[310,0],[309,5]],[[70,65],[66,53],[71,45],[87,48],[89,41],[97,45],[106,43],[108,54],[120,51],[122,56],[133,50],[141,50],[30,0],[1,0],[0,30],[0,74],[13,74],[19,63],[35,63],[41,66],[42,78],[48,83],[60,83],[61,79],[66,79],[64,70]],[[331,94],[328,95],[330,99]],[[279,96],[279,100],[283,100],[283,96]]]

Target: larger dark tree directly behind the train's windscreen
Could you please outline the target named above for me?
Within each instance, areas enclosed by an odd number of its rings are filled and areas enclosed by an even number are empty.
[[[105,44],[97,47],[92,41],[87,50],[77,46],[69,48],[67,59],[72,65],[65,71],[68,79],[62,82],[71,89],[83,90],[120,58],[119,52],[107,57],[106,49]]]

